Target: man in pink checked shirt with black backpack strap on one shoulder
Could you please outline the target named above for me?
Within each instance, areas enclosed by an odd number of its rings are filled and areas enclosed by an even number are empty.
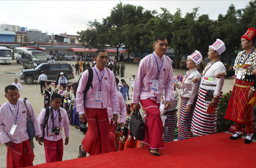
[[[120,111],[118,98],[116,94],[116,85],[114,73],[105,68],[108,61],[108,55],[105,50],[95,52],[96,66],[93,70],[92,87],[89,88],[84,104],[84,93],[88,70],[84,71],[77,88],[76,105],[80,121],[87,119],[88,130],[82,145],[79,147],[78,157],[85,157],[86,152],[90,155],[98,155],[109,152],[109,132],[110,124],[108,120],[107,107],[109,101],[113,111],[113,122],[118,118]]]

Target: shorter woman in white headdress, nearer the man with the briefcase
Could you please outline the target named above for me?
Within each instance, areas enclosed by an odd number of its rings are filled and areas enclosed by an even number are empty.
[[[178,123],[178,140],[193,138],[190,130],[193,112],[197,102],[198,88],[200,83],[193,83],[192,79],[201,78],[196,66],[202,62],[202,55],[199,51],[187,56],[187,71],[182,80],[182,85],[176,85],[182,89],[180,94],[179,123]],[[174,83],[175,85],[175,83]]]

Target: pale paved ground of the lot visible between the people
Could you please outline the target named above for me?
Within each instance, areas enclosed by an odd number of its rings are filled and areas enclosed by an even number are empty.
[[[67,61],[68,63],[75,64],[76,61]],[[92,63],[91,63],[92,64]],[[138,64],[131,63],[126,64],[124,77],[120,78],[120,76],[117,76],[119,80],[124,79],[126,83],[130,86],[130,92],[129,94],[132,95],[132,88],[131,88],[131,81],[129,81],[130,77],[132,75],[136,75],[138,69]],[[5,98],[4,88],[7,85],[10,85],[14,82],[14,78],[17,78],[17,74],[20,70],[23,70],[23,67],[21,64],[17,64],[16,61],[13,60],[11,65],[4,65],[0,64],[0,104],[4,104],[7,99]],[[185,75],[186,70],[173,70],[174,74],[176,73],[180,75]],[[74,69],[75,72],[75,69]],[[81,75],[81,74],[80,74]],[[75,79],[69,80],[69,84],[72,84],[74,82],[77,82],[79,79],[79,75],[75,75]],[[32,85],[26,85],[24,81],[18,81],[21,83],[23,89],[20,92],[21,98],[27,97],[28,101],[31,103],[36,116],[40,113],[41,109],[43,109],[43,96],[41,96],[40,92],[40,84],[37,84],[37,82],[34,82]],[[233,88],[234,80],[233,78],[226,79],[224,82],[223,91],[224,93],[232,90]],[[178,90],[180,93],[180,90]],[[38,95],[38,96],[36,96]],[[131,97],[130,97],[131,98]],[[128,103],[130,104],[132,100],[128,100]],[[178,109],[179,109],[180,100],[178,103]],[[69,138],[69,144],[67,146],[64,146],[64,155],[63,160],[73,159],[78,157],[78,147],[81,144],[82,139],[84,138],[84,134],[82,134],[81,131],[76,130],[74,127],[70,126],[70,138]],[[63,131],[64,133],[64,131]],[[44,148],[43,146],[40,146],[37,141],[34,140],[35,149],[34,149],[34,162],[33,164],[42,164],[45,163],[45,155],[44,155]],[[0,168],[6,166],[6,147],[5,145],[0,145]]]

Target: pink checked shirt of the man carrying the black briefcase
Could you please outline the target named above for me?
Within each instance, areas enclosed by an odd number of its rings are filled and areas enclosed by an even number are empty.
[[[171,59],[163,55],[160,58],[158,55],[154,55],[157,59],[158,67],[160,69],[158,80],[160,81],[157,90],[151,89],[153,79],[156,79],[158,74],[156,59],[153,54],[144,57],[139,64],[139,68],[136,75],[135,85],[133,88],[132,103],[139,103],[139,100],[144,99],[156,99],[157,103],[161,101],[161,94],[163,89],[165,90],[165,99],[173,100],[173,71],[171,66]]]

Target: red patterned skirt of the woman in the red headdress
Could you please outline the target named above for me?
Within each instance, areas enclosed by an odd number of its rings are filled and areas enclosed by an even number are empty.
[[[249,105],[251,99],[247,98],[252,85],[251,81],[235,79],[225,119],[244,124],[252,123],[253,106]]]

